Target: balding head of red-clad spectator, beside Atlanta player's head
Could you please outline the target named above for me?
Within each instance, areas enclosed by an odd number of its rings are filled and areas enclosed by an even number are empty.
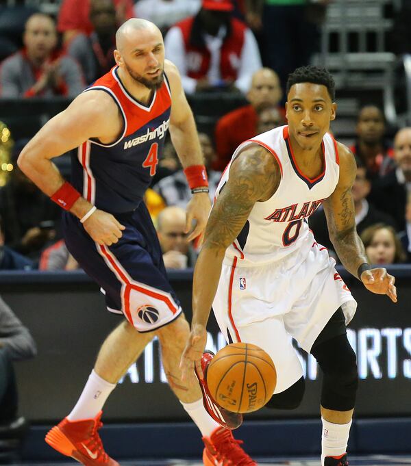
[[[261,68],[253,74],[247,99],[257,111],[264,105],[278,105],[281,98],[282,89],[275,71]]]

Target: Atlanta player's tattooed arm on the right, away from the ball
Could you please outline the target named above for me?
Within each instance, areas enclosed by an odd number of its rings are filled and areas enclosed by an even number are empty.
[[[358,268],[367,263],[364,244],[356,229],[356,211],[351,188],[356,179],[356,161],[353,154],[343,144],[338,143],[340,155],[340,179],[336,189],[323,203],[329,239],[331,240],[343,266],[353,276],[360,278],[365,287],[373,293],[387,294],[397,302],[393,276],[384,268],[364,270],[358,277]]]

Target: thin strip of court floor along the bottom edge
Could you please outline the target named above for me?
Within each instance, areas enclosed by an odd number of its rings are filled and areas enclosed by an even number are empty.
[[[257,461],[257,458],[256,458]],[[259,465],[265,466],[319,466],[319,458],[258,458]],[[61,461],[53,463],[8,463],[10,466],[75,466],[77,461]],[[121,466],[203,466],[199,461],[187,460],[125,460]],[[350,456],[349,466],[404,466],[411,465],[411,456]]]

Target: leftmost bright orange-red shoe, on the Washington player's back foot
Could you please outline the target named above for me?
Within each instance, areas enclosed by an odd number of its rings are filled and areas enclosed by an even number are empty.
[[[94,419],[69,421],[66,417],[54,426],[46,435],[46,442],[54,450],[71,456],[85,466],[120,466],[103,448],[97,430],[103,426],[100,422],[102,411]]]

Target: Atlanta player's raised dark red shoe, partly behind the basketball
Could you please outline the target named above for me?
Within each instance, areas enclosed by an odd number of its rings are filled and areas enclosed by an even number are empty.
[[[241,426],[242,424],[242,414],[240,413],[232,413],[231,411],[227,411],[227,409],[222,408],[217,404],[210,395],[210,390],[207,386],[207,367],[210,364],[211,360],[214,357],[214,353],[206,350],[203,352],[203,357],[201,357],[201,369],[203,370],[204,378],[201,379],[199,374],[197,373],[197,369],[195,369],[195,375],[199,379],[199,384],[201,391],[203,392],[203,404],[204,408],[208,412],[208,414],[214,419],[215,422],[220,424],[221,427],[226,429],[236,429]]]

